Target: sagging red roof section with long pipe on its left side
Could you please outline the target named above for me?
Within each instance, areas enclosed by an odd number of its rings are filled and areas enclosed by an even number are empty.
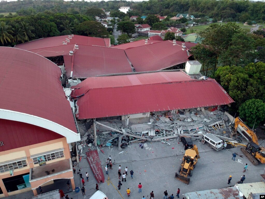
[[[132,72],[124,50],[87,45],[79,45],[78,48],[74,49],[74,55],[64,55],[67,78],[70,77],[71,71],[72,77],[77,78]]]

